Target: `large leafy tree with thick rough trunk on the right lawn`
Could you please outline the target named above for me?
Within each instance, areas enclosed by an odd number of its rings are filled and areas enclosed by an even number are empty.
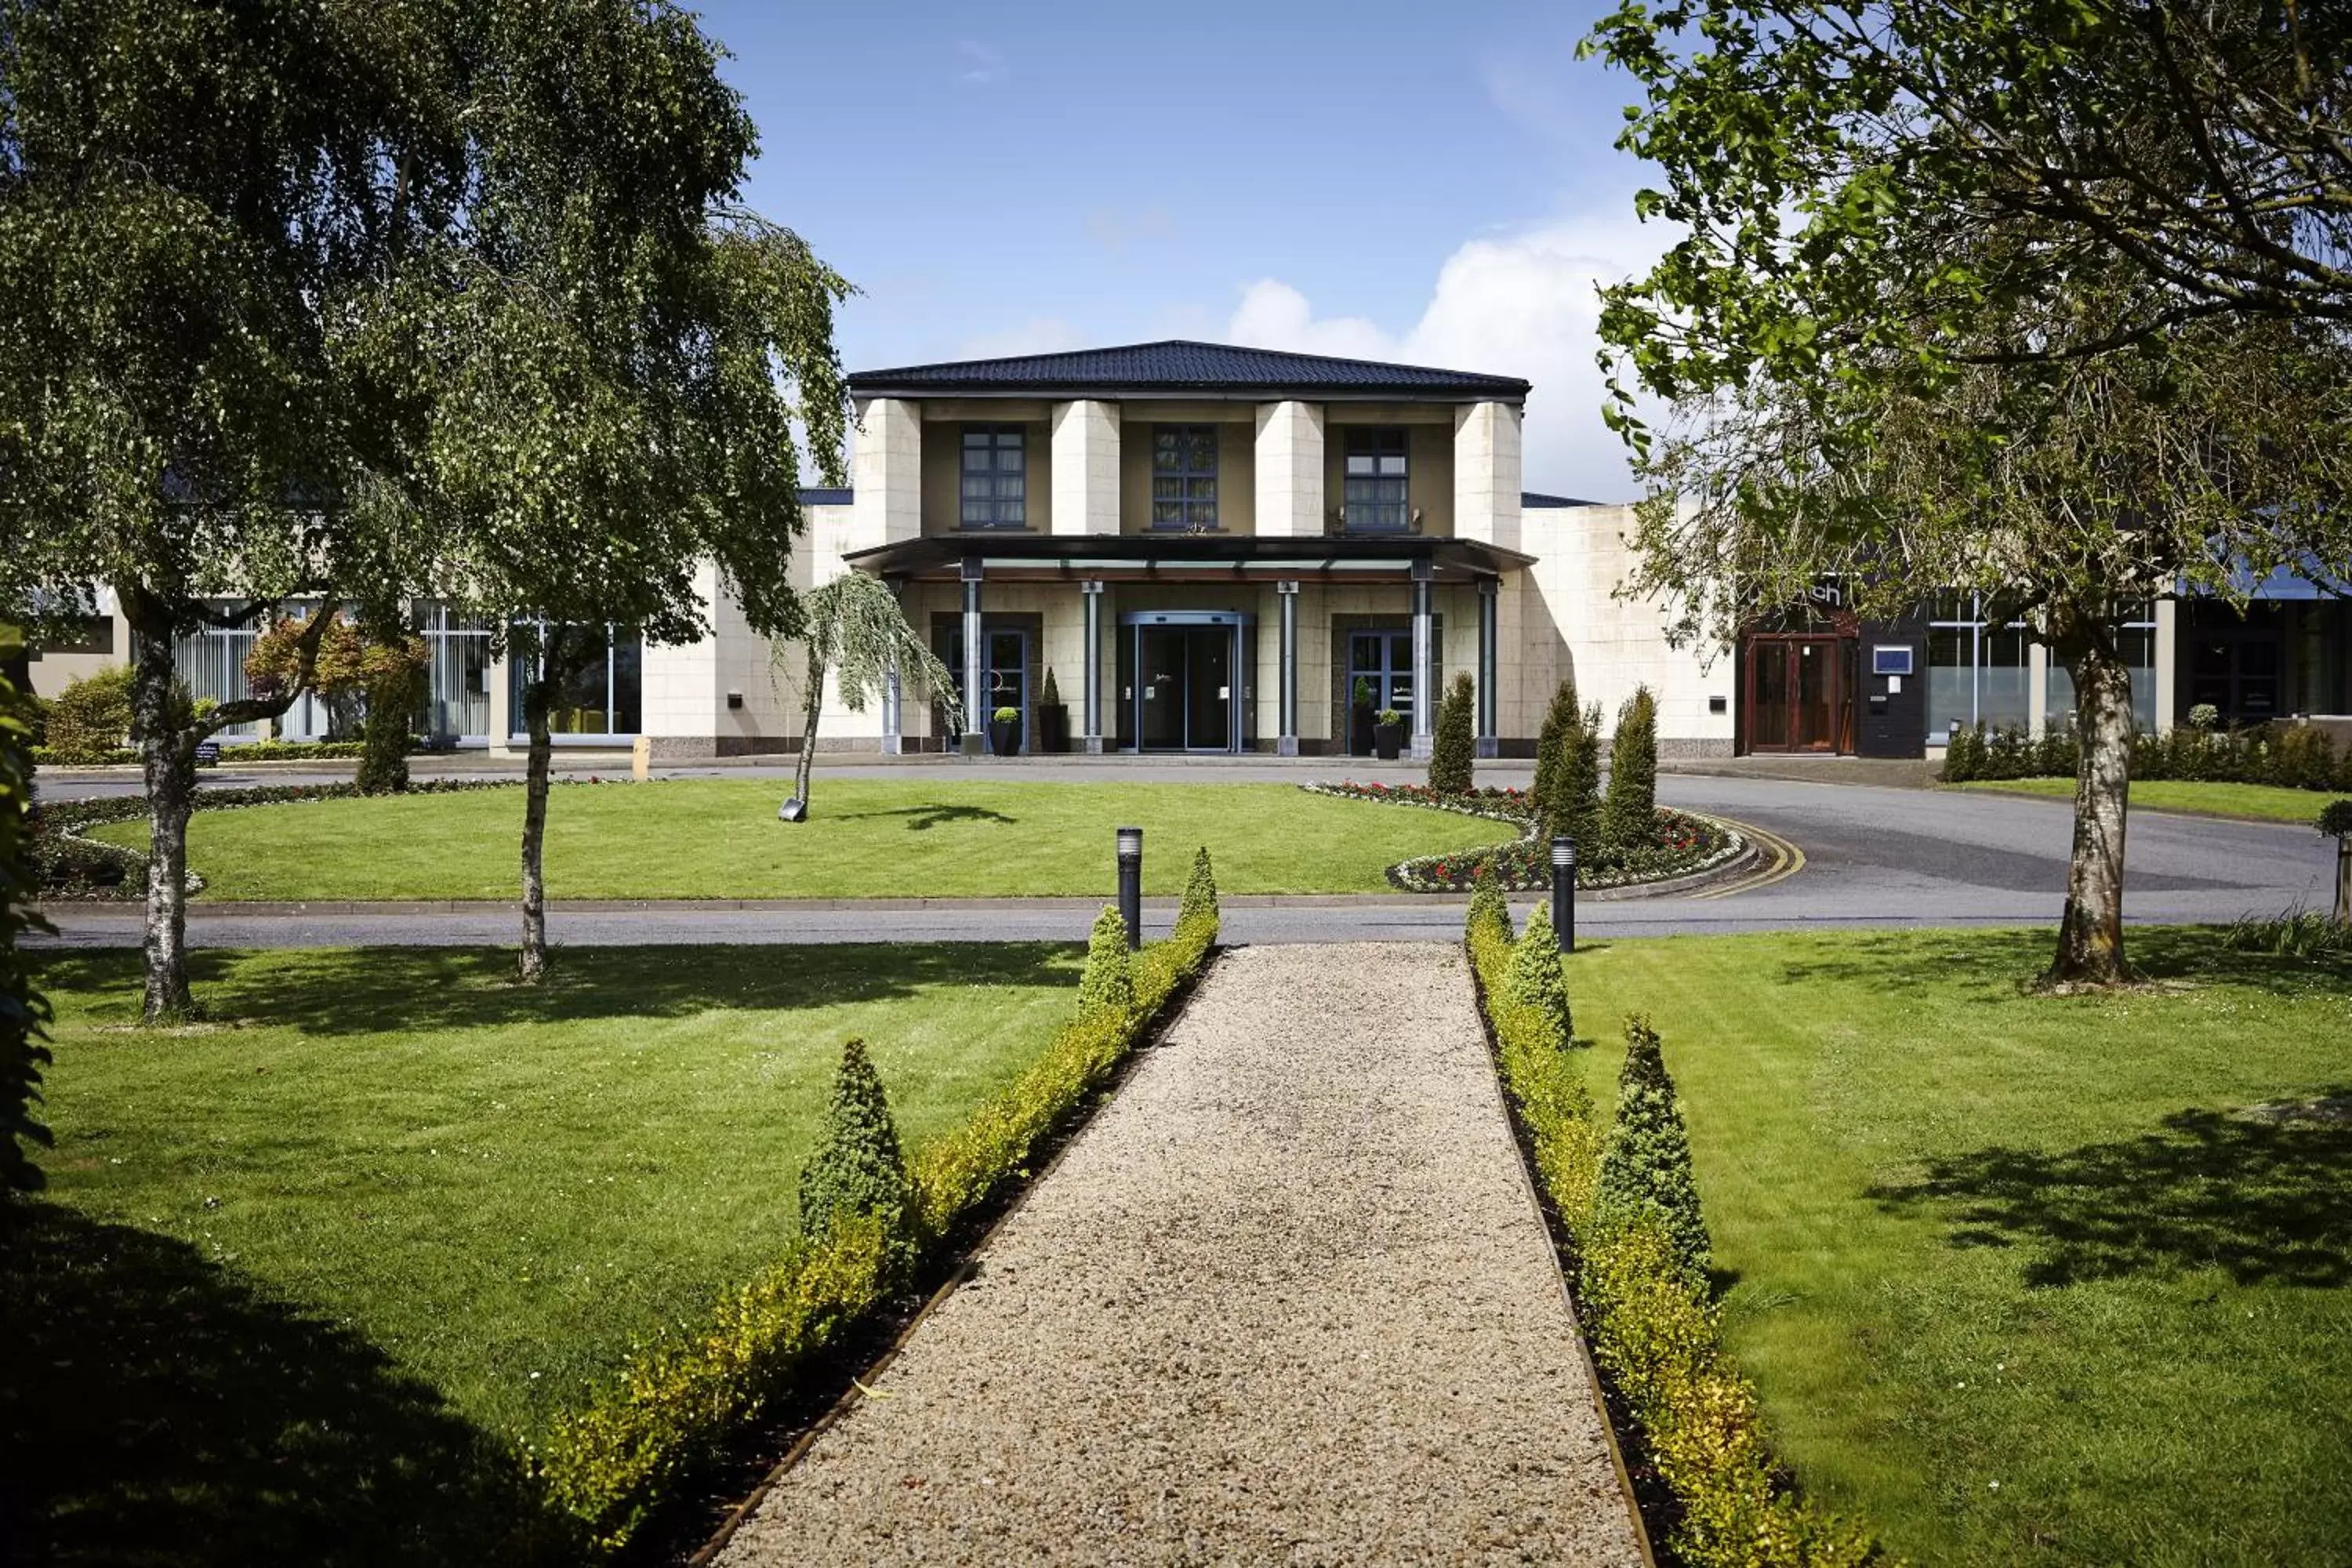
[[[1990,165],[1955,155],[1903,82],[1940,73],[1992,106],[2042,80],[2044,40],[2013,7],[1698,0],[1625,7],[1592,42],[1646,94],[1621,146],[1665,188],[1639,209],[1682,230],[1602,310],[1609,418],[1646,487],[1628,588],[1679,595],[1677,630],[1722,642],[1823,576],[1863,616],[1962,590],[2025,621],[2074,679],[2082,743],[2044,980],[2124,980],[2117,611],[2169,592],[2244,602],[2279,567],[2352,569],[2343,327],[2230,320],[2063,209],[1997,200]],[[2164,96],[2133,82],[2105,99],[2100,136],[2223,200],[2197,148],[2169,141]],[[2020,158],[2065,155],[2058,120],[2004,134]],[[1668,404],[1665,440],[1625,376]]]

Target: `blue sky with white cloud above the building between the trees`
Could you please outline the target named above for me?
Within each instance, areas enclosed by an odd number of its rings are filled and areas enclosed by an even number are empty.
[[[1592,282],[1661,247],[1602,7],[713,2],[750,200],[851,369],[1190,336],[1526,376],[1526,482],[1628,498]]]

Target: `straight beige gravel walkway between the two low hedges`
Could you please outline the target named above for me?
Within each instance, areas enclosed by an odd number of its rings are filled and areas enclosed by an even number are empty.
[[[1454,947],[1228,952],[720,1563],[1639,1563]]]

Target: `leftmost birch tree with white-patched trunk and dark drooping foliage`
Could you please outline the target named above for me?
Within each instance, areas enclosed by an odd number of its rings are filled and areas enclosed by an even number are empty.
[[[193,1006],[176,642],[360,581],[405,411],[353,364],[456,223],[466,7],[0,0],[0,604],[129,621],[146,1013]],[[313,618],[318,632],[325,618]]]

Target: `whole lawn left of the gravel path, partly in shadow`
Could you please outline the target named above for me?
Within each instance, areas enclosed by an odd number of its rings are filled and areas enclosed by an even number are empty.
[[[456,1497],[499,1490],[496,1450],[776,1258],[840,1041],[868,1037],[920,1145],[1049,1044],[1077,952],[569,950],[546,992],[510,969],[200,952],[214,1023],[153,1032],[134,954],[45,959],[56,1150],[33,1262],[0,1272],[33,1335],[0,1359],[0,1439],[89,1554],[61,1559],[477,1561]],[[372,1554],[428,1519],[454,1535]]]

